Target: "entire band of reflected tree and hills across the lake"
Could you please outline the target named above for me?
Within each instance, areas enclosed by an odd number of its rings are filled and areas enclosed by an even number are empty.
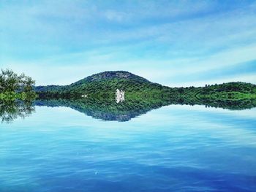
[[[120,92],[120,91],[119,91]],[[121,93],[124,93],[121,91]],[[124,96],[124,94],[122,94]],[[34,101],[0,101],[0,118],[4,123],[10,123],[18,117],[25,118],[34,112],[35,105],[48,107],[70,107],[79,112],[101,120],[127,121],[145,114],[150,110],[170,104],[205,105],[206,107],[221,107],[228,110],[245,110],[256,107],[255,100],[241,101],[211,101],[193,98],[191,101],[177,99],[165,101],[164,99],[126,99],[116,102],[105,99],[42,99]]]

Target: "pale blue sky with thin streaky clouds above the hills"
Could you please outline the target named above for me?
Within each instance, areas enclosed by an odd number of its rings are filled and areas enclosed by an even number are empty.
[[[0,0],[0,68],[36,85],[116,70],[172,87],[256,84],[256,1]]]

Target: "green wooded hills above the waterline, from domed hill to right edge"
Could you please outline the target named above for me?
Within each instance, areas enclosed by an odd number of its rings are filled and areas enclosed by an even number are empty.
[[[245,82],[229,82],[206,87],[169,88],[138,77],[129,72],[103,72],[86,77],[67,86],[37,87],[40,98],[80,99],[88,95],[94,99],[113,99],[116,89],[126,91],[127,99],[164,99],[195,101],[198,99],[242,100],[255,99],[256,85]]]

